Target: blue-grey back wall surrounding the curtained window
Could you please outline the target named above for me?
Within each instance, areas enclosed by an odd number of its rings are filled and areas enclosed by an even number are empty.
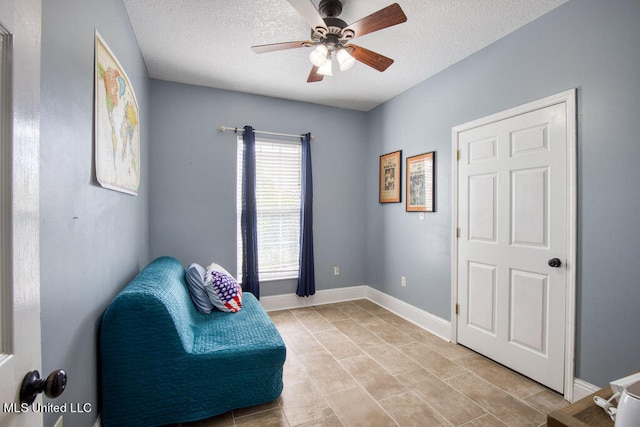
[[[365,283],[365,113],[159,80],[151,104],[152,257],[215,260],[235,273],[236,135],[217,127],[311,132],[316,288]],[[263,282],[260,294],[295,289],[295,280]]]

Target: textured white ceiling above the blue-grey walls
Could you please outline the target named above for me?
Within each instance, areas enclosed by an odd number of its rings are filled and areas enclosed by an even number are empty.
[[[316,6],[319,0],[312,1]],[[354,40],[393,58],[307,83],[311,48],[258,55],[251,46],[307,40],[287,0],[124,0],[151,77],[368,111],[567,0],[396,0],[407,22]],[[394,0],[343,0],[350,24]]]

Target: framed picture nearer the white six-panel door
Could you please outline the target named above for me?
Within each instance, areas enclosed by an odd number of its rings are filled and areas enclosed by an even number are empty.
[[[407,212],[435,212],[433,170],[435,151],[407,157]]]

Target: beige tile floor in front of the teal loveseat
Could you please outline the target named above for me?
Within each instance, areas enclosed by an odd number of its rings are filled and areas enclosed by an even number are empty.
[[[277,400],[183,427],[541,426],[562,396],[369,300],[270,312]]]

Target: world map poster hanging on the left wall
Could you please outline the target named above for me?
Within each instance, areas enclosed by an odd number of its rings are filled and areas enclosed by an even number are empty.
[[[94,79],[96,178],[102,187],[137,195],[138,101],[124,69],[97,31]]]

